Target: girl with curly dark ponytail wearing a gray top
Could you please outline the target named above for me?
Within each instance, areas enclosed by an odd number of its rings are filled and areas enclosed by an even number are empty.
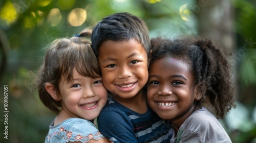
[[[209,39],[155,38],[147,84],[148,105],[177,133],[170,142],[231,142],[217,118],[234,103],[230,65]]]

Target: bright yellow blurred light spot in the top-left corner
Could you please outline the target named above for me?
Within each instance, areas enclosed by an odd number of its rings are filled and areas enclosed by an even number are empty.
[[[18,19],[17,11],[10,1],[7,1],[1,9],[0,17],[3,20],[1,20],[1,24],[8,27]]]

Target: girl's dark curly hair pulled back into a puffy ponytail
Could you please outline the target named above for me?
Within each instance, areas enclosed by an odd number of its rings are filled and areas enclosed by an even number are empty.
[[[216,110],[216,116],[223,118],[234,107],[234,87],[231,81],[230,68],[222,50],[207,38],[181,37],[176,40],[154,38],[151,40],[151,62],[171,56],[183,60],[189,65],[194,75],[194,84],[202,99],[199,106],[210,103]]]

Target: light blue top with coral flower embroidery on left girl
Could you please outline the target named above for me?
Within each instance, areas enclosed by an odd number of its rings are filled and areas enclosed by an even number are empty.
[[[96,126],[88,120],[82,118],[68,118],[62,123],[53,126],[54,121],[49,126],[49,132],[45,143],[48,142],[88,142],[90,139],[98,140],[104,137]]]

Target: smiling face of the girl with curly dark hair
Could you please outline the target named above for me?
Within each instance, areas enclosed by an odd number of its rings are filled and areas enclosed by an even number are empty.
[[[151,65],[147,102],[161,118],[181,125],[193,112],[195,99],[194,76],[183,60],[163,57]]]

